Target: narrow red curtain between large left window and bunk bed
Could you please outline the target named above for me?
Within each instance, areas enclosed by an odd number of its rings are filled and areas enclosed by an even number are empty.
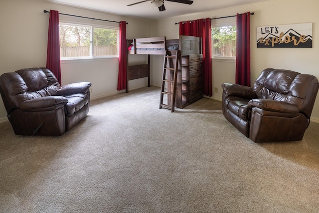
[[[119,44],[119,77],[118,90],[126,89],[126,22],[120,22],[120,44]]]

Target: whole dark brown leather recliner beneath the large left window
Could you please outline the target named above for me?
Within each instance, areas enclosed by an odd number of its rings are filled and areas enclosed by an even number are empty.
[[[60,86],[47,68],[0,76],[0,93],[17,135],[62,135],[89,112],[90,82]]]

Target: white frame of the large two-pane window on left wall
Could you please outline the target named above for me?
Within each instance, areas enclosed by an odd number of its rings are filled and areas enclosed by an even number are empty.
[[[90,24],[90,23],[78,23],[78,22],[72,22],[72,21],[60,21],[60,24],[65,25],[71,25],[71,26],[83,26],[83,27],[90,27],[91,28],[91,35],[90,35],[90,56],[84,56],[84,57],[61,57],[61,61],[67,61],[67,60],[88,60],[88,59],[103,59],[103,58],[119,58],[119,45],[120,45],[120,27],[119,26],[112,26],[112,25],[102,25],[102,24]],[[118,36],[117,36],[117,52],[118,55],[102,55],[102,56],[94,56],[94,46],[93,44],[93,30],[94,28],[105,28],[105,29],[114,29],[118,30]]]

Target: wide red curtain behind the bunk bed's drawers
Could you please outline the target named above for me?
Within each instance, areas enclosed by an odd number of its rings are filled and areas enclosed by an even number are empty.
[[[179,35],[191,35],[202,38],[204,95],[212,96],[210,18],[179,22]]]

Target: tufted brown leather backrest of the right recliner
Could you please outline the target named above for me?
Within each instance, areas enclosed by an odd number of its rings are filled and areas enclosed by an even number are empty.
[[[268,68],[257,78],[253,89],[258,98],[294,104],[310,118],[318,87],[318,79],[313,75]]]

